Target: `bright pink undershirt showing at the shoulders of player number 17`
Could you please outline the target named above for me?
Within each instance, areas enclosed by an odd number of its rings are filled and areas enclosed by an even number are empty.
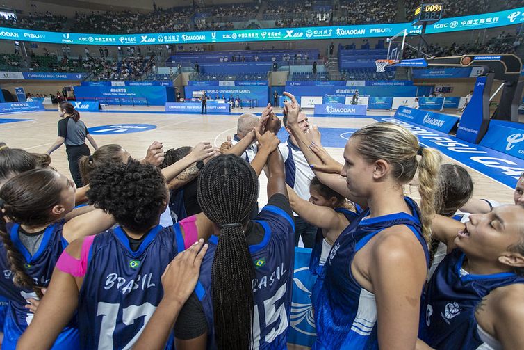
[[[189,216],[188,218],[184,218],[182,221],[179,222],[184,232],[184,249],[189,248],[198,239],[197,224],[195,223],[196,221],[197,217],[193,215]],[[58,262],[56,262],[56,267],[60,271],[69,273],[74,277],[85,276],[85,273],[88,271],[89,250],[93,244],[94,239],[95,236],[85,237],[82,244],[80,259],[72,257],[71,255],[69,255],[69,253],[67,253],[67,250],[64,250],[62,255],[60,255],[60,258],[58,258]]]

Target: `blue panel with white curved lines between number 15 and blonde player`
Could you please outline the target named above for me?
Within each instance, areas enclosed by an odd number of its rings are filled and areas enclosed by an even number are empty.
[[[311,347],[316,340],[316,327],[311,305],[311,292],[316,276],[309,272],[310,257],[310,248],[295,247],[288,343],[304,347]]]

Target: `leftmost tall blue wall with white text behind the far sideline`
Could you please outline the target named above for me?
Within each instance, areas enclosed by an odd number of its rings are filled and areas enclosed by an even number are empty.
[[[174,101],[174,88],[165,86],[76,86],[74,95],[79,100],[99,99],[108,104],[118,104],[117,99],[123,99],[122,104],[146,104],[163,106],[167,101],[167,92]]]

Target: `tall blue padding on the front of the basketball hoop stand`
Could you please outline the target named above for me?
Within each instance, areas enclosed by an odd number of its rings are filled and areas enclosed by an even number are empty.
[[[484,122],[484,87],[487,77],[478,77],[473,96],[460,118],[457,137],[470,143],[478,143],[479,131]]]

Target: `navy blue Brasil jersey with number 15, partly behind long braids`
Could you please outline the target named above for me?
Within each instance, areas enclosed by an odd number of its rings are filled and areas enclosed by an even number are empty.
[[[265,234],[260,244],[249,246],[255,266],[253,280],[254,349],[286,349],[293,289],[295,223],[284,210],[272,205],[263,207],[255,223]],[[208,349],[216,349],[211,296],[211,268],[218,244],[212,236],[200,267],[195,292],[202,302],[208,324]]]

